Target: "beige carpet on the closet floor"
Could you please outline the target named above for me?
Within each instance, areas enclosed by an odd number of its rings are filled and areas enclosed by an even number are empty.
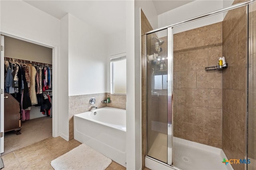
[[[26,147],[52,136],[52,118],[44,116],[22,122],[21,134],[15,131],[4,133],[4,153]]]

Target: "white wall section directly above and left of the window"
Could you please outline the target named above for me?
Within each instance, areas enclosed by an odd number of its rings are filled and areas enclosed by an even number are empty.
[[[116,33],[107,36],[107,51],[108,56],[106,59],[106,92],[110,93],[110,59],[111,56],[126,52],[126,30],[120,30]]]

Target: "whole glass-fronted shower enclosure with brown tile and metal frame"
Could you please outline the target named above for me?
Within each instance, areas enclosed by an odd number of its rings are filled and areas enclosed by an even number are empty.
[[[146,167],[256,168],[255,4],[145,33]],[[223,12],[221,22],[194,26]],[[217,68],[223,56],[228,66]]]

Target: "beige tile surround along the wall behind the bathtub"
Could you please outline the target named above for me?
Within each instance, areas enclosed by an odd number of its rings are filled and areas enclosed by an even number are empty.
[[[102,100],[106,100],[107,97],[110,97],[112,103],[104,104],[101,103]],[[90,98],[96,99],[96,104],[90,104]],[[117,95],[110,93],[98,93],[98,94],[85,94],[78,96],[69,96],[69,140],[74,138],[74,120],[73,116],[78,113],[83,113],[90,111],[92,106],[101,107],[114,107],[120,109],[126,109],[126,95]]]

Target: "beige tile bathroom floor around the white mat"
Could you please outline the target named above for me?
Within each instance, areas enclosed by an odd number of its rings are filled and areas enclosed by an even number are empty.
[[[81,143],[62,137],[49,137],[43,141],[15,150],[1,156],[4,162],[2,170],[53,170],[50,162],[64,153],[78,147]],[[125,170],[126,168],[112,162],[106,170]]]

